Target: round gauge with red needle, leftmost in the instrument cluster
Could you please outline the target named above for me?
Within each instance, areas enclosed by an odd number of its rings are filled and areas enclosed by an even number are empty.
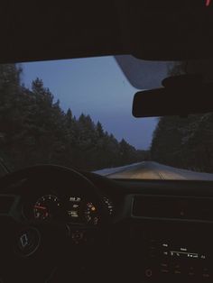
[[[60,201],[57,196],[46,195],[37,200],[33,206],[34,218],[47,220],[59,215]]]

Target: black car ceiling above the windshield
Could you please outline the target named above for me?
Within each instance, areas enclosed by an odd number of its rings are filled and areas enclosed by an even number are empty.
[[[118,54],[154,60],[212,57],[212,7],[191,6],[201,0],[176,2],[7,1],[0,10],[0,62]]]

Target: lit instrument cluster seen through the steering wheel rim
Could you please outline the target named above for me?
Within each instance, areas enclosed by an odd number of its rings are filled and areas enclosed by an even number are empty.
[[[110,217],[114,214],[112,201],[103,196],[103,203],[106,206]],[[32,195],[23,202],[23,217],[28,220],[38,220],[42,222],[60,221],[69,224],[97,225],[100,213],[93,203],[92,197],[82,193],[70,193],[61,195],[60,192],[50,190],[44,194]]]

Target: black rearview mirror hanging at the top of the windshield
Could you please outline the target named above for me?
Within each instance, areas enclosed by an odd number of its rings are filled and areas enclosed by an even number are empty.
[[[164,87],[134,95],[134,117],[202,114],[213,112],[213,83],[185,76],[166,78]]]

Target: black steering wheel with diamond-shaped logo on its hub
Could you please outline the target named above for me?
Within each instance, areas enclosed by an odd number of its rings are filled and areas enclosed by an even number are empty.
[[[49,181],[51,184],[57,182],[61,187],[70,184],[84,188],[94,199],[101,215],[100,223],[96,227],[85,224],[77,228],[69,223],[24,219],[20,214],[22,196],[19,191],[23,192],[23,187],[30,188],[34,182],[48,184]],[[82,258],[82,251],[88,251],[73,242],[75,233],[93,234],[96,240],[105,234],[108,214],[103,198],[97,187],[74,169],[38,165],[7,174],[0,179],[0,199],[4,202],[9,197],[14,197],[13,212],[9,209],[0,213],[0,277],[3,282],[51,282],[47,278],[60,264],[63,265],[67,260],[73,263],[78,257]]]

